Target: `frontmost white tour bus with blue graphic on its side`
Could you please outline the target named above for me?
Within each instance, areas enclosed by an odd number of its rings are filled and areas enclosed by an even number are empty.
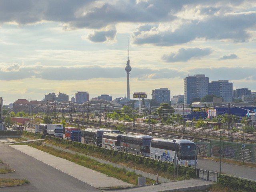
[[[188,161],[188,166],[193,166],[197,164],[197,148],[194,142],[186,139],[154,138],[150,144],[150,158],[174,163],[176,156],[178,164],[185,165]]]

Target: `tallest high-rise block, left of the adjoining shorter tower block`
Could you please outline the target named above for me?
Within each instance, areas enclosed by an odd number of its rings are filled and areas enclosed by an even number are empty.
[[[191,104],[194,98],[208,95],[209,78],[205,75],[193,75],[184,78],[184,103]]]

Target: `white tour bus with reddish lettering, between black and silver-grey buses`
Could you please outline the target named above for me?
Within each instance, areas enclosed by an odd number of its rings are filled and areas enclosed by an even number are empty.
[[[122,134],[120,133],[104,132],[102,135],[102,147],[120,151],[121,136]]]

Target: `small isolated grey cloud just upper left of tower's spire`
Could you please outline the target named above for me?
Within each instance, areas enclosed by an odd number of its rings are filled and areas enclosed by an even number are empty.
[[[92,42],[105,42],[107,40],[113,40],[116,36],[116,28],[113,27],[109,30],[94,31],[88,35],[88,39]]]

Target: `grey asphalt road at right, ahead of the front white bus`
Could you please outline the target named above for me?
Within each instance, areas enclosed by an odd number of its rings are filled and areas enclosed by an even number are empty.
[[[197,168],[213,172],[220,172],[220,162],[198,158]],[[256,168],[222,162],[221,170],[222,173],[225,174],[256,181]]]

